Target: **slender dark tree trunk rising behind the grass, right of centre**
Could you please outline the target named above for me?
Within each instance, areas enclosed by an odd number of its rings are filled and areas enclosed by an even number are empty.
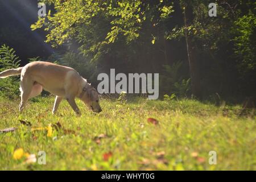
[[[192,97],[201,99],[201,86],[200,86],[200,73],[199,73],[199,63],[196,58],[196,47],[192,42],[192,35],[188,34],[187,27],[191,26],[193,23],[193,9],[190,2],[184,3],[184,25],[185,30],[185,40],[187,44],[187,55],[189,63],[189,71],[191,76],[191,91]]]

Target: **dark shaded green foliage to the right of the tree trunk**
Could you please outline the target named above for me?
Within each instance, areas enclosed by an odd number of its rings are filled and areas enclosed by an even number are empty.
[[[185,33],[191,38],[199,63],[201,89],[207,88],[208,96],[216,92],[228,95],[233,90],[255,96],[255,86],[247,83],[255,82],[256,3],[216,1],[217,18],[210,18],[210,2],[181,1],[183,11],[186,5],[191,5],[193,15],[187,18],[192,19],[192,23],[187,27],[184,23],[176,24],[168,31],[166,39],[180,41]]]

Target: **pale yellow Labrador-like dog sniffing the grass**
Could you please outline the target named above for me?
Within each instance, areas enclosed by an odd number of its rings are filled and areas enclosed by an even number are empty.
[[[44,61],[28,63],[24,67],[8,69],[0,73],[0,78],[20,75],[19,111],[22,111],[28,99],[38,96],[42,90],[55,95],[52,114],[55,114],[61,100],[66,99],[77,115],[81,115],[75,98],[81,101],[96,113],[102,111],[99,96],[85,78],[70,67]]]

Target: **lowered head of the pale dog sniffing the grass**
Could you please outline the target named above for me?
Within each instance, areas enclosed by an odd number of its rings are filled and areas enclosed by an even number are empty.
[[[82,88],[80,99],[94,112],[100,113],[102,111],[98,92],[91,85],[86,84]]]

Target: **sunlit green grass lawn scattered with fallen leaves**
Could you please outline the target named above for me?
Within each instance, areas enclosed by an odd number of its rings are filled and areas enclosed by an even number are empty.
[[[78,101],[76,117],[66,101],[52,115],[53,97],[36,98],[18,113],[19,101],[0,100],[0,129],[18,130],[0,134],[2,170],[255,170],[256,119],[238,117],[241,106],[216,107],[193,100],[149,101],[135,98],[126,104],[102,100],[102,113],[93,114]],[[159,125],[147,122],[158,119]],[[31,122],[31,131],[19,119]],[[95,138],[105,134],[104,138]],[[46,165],[15,160],[23,148],[30,154],[46,152]],[[217,164],[208,163],[209,151],[217,152]],[[112,153],[104,160],[104,154]]]

